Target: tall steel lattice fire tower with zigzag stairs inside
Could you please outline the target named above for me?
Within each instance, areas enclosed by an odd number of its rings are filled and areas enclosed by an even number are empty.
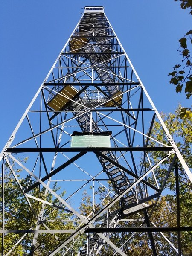
[[[166,144],[151,135],[155,119],[167,137]],[[151,161],[155,151],[160,152],[156,162]],[[180,227],[178,196],[177,227],[157,227],[151,216],[170,173],[178,176],[177,160],[190,182],[192,174],[103,7],[85,7],[0,156],[2,255],[12,255],[27,237],[30,255],[39,255],[39,244],[47,256],[104,255],[102,248],[107,244],[114,255],[125,256],[125,244],[141,231],[151,255],[157,255],[160,236],[175,255],[181,255],[180,232],[189,228]],[[156,174],[165,161],[169,168],[159,184]],[[24,224],[21,212],[15,220],[17,230],[5,217],[7,169],[32,218]],[[176,183],[179,195],[178,177]],[[84,212],[82,193],[87,200]],[[163,231],[177,232],[177,246]],[[15,233],[20,234],[17,240]],[[122,233],[120,247],[112,239],[115,233]],[[3,254],[5,234],[12,242]],[[46,236],[52,239],[51,249]]]

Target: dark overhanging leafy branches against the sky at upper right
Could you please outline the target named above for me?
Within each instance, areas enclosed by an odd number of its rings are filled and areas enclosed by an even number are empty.
[[[176,2],[178,0],[175,0]],[[190,8],[192,9],[192,1],[191,0],[179,0],[181,2],[181,9]],[[190,11],[192,15],[192,10]],[[181,92],[184,87],[184,91],[186,93],[186,98],[189,99],[192,95],[192,57],[190,55],[190,48],[192,44],[192,29],[189,30],[183,38],[179,39],[180,47],[178,48],[178,52],[182,56],[181,63],[176,64],[173,67],[173,71],[169,73],[169,76],[172,76],[170,79],[170,84],[174,84],[176,86],[176,92]],[[183,86],[184,85],[184,86]],[[191,108],[183,108],[180,116],[192,118]]]

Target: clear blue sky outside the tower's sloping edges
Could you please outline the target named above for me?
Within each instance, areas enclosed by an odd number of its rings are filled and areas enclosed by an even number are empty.
[[[113,29],[158,111],[189,106],[167,74],[180,61],[178,39],[188,32],[189,10],[174,0],[0,1],[0,151],[84,12],[104,6]]]

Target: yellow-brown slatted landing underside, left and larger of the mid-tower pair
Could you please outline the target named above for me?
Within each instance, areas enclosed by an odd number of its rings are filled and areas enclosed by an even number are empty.
[[[61,110],[69,101],[73,99],[74,96],[78,93],[74,87],[66,85],[59,94],[56,94],[51,101],[48,103],[48,106],[54,110]],[[68,97],[69,99],[67,99]]]

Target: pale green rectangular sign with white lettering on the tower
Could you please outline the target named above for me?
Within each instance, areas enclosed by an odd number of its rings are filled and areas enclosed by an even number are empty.
[[[72,148],[110,148],[110,136],[102,135],[81,135],[71,137]]]

